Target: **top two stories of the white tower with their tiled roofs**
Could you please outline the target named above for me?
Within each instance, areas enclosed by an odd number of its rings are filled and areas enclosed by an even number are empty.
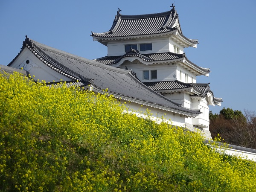
[[[196,76],[209,76],[209,68],[186,57],[184,48],[196,48],[198,40],[183,35],[175,6],[171,7],[146,15],[121,15],[118,9],[108,32],[92,32],[93,41],[108,47],[108,55],[95,61],[132,69],[142,82],[195,83]]]

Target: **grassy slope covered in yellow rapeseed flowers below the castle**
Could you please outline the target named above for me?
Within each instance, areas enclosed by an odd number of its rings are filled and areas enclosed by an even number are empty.
[[[256,164],[113,96],[0,74],[0,191],[253,191]]]

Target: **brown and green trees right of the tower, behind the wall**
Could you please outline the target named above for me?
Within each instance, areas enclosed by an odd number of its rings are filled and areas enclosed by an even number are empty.
[[[212,138],[219,134],[224,142],[256,149],[256,113],[244,110],[244,114],[231,108],[223,108],[220,114],[209,113],[209,129]]]

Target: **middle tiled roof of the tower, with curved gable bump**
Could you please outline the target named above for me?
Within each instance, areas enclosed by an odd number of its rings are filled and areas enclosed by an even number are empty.
[[[97,61],[102,64],[116,64],[118,63],[122,58],[125,57],[138,57],[141,58],[143,61],[146,62],[159,62],[159,61],[172,61],[175,59],[186,59],[186,61],[194,66],[195,68],[202,70],[204,73],[210,73],[211,71],[209,68],[199,67],[198,65],[192,63],[189,61],[189,59],[186,57],[186,55],[183,54],[177,54],[173,52],[162,52],[162,53],[151,53],[151,54],[140,54],[138,52],[127,52],[124,55],[120,56],[105,56],[102,58],[94,59],[93,61]]]

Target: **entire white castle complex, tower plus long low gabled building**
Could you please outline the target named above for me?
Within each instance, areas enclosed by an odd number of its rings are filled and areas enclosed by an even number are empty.
[[[105,57],[89,60],[26,36],[8,66],[23,67],[34,79],[66,81],[99,94],[108,88],[131,111],[148,109],[153,119],[164,117],[210,139],[209,105],[221,105],[222,99],[214,97],[208,83],[197,83],[197,76],[209,76],[210,70],[186,57],[184,48],[197,47],[198,40],[183,35],[171,7],[148,15],[121,15],[119,9],[108,32],[91,35],[108,47]]]

